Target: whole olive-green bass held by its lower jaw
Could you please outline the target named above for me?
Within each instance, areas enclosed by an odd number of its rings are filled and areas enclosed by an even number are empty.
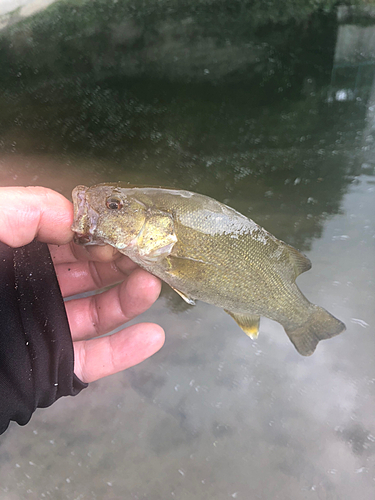
[[[270,318],[309,356],[345,330],[295,283],[310,260],[213,198],[116,182],[77,186],[72,199],[75,243],[112,245],[188,304],[223,308],[252,339],[260,317]]]

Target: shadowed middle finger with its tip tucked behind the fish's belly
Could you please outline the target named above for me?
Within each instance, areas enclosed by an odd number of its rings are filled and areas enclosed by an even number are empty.
[[[73,262],[55,266],[63,297],[77,293],[98,290],[123,281],[138,266],[124,257],[126,263],[121,266],[117,262]]]

